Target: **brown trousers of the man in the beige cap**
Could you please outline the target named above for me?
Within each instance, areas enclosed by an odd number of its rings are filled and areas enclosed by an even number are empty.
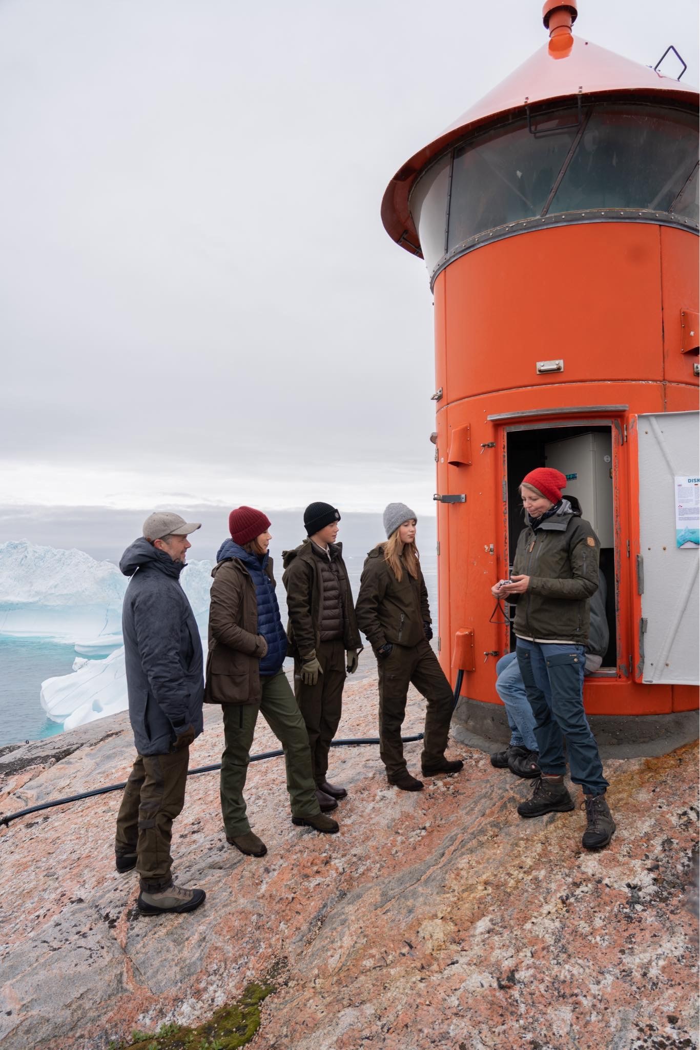
[[[172,882],[172,822],[185,804],[189,747],[168,755],[137,755],[116,817],[114,849],[136,854],[141,888],[157,892]]]

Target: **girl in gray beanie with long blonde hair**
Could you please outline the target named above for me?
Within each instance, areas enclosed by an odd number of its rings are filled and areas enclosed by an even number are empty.
[[[389,503],[383,521],[386,543],[367,554],[355,611],[360,630],[377,655],[379,753],[386,778],[402,791],[421,791],[423,781],[408,772],[401,742],[410,684],[427,701],[423,775],[459,773],[464,763],[445,757],[452,690],[429,645],[432,628],[416,547],[416,514],[405,503]]]

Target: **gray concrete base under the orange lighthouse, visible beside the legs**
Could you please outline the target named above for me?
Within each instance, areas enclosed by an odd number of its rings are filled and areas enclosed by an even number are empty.
[[[667,715],[589,715],[602,758],[654,758],[698,739],[697,711]],[[452,716],[451,735],[480,751],[507,747],[510,729],[506,709],[460,697]]]

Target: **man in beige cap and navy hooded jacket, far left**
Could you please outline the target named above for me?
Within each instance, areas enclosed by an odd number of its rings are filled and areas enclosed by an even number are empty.
[[[136,868],[142,915],[192,911],[204,889],[176,886],[172,822],[185,803],[190,744],[203,730],[201,639],[179,575],[198,522],[156,511],[124,552],[122,629],[136,760],[116,818],[116,870]]]

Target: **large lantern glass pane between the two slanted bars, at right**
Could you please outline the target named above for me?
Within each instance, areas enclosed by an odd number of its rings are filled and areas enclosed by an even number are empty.
[[[549,214],[580,208],[667,211],[696,161],[697,126],[690,114],[658,107],[596,108]]]

